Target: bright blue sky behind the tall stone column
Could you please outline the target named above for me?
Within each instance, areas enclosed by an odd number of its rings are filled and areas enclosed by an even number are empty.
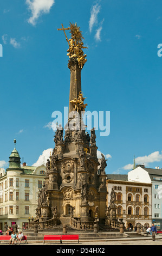
[[[0,167],[8,166],[14,138],[28,165],[54,148],[46,126],[53,111],[68,106],[70,82],[68,45],[57,28],[76,22],[88,46],[87,110],[111,113],[109,136],[96,131],[106,173],[127,174],[134,155],[137,163],[162,168],[160,7],[160,0],[1,1]]]

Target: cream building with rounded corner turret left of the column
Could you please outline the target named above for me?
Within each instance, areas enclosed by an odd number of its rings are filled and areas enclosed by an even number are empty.
[[[38,192],[46,176],[46,167],[21,166],[16,148],[9,157],[9,168],[0,169],[0,229],[17,224],[22,228],[36,216]]]

